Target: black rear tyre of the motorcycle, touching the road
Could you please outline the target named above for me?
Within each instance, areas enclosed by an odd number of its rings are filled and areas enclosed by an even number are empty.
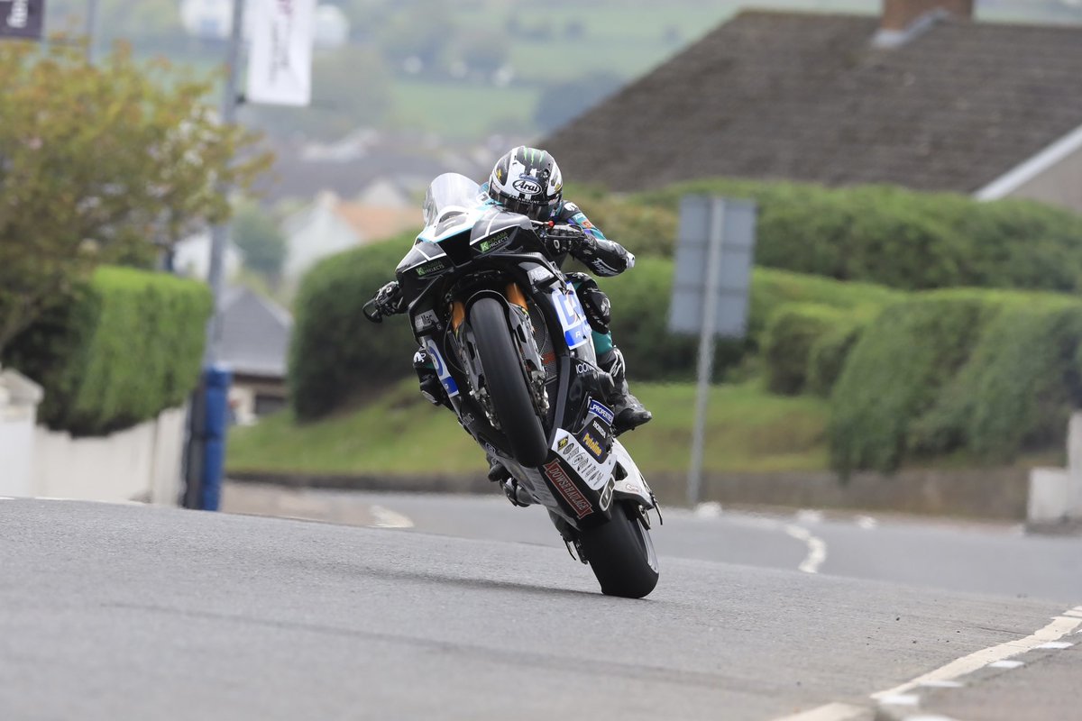
[[[582,531],[582,547],[602,592],[641,599],[658,585],[658,557],[637,507],[620,502],[612,518]]]

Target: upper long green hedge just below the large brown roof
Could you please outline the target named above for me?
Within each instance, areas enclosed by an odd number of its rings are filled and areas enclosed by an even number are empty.
[[[761,266],[907,290],[1082,288],[1082,217],[1028,200],[710,179],[622,202],[588,197],[583,204],[607,235],[633,251],[671,255],[686,193],[757,201]]]

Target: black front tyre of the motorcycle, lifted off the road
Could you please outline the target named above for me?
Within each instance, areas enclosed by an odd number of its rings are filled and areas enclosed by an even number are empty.
[[[477,341],[492,410],[515,458],[524,466],[540,466],[549,456],[549,443],[526,385],[522,358],[511,338],[504,305],[496,298],[480,298],[470,308],[470,326]]]

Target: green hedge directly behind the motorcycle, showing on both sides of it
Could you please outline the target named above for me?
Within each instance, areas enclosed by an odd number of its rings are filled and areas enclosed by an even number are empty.
[[[393,277],[411,239],[405,236],[325,259],[302,282],[290,350],[293,408],[301,418],[318,418],[367,390],[407,377],[415,349],[403,319],[372,325],[361,307]],[[602,278],[612,299],[612,335],[629,373],[638,379],[688,379],[695,374],[698,339],[669,333],[673,266],[646,257],[630,272]],[[715,377],[754,352],[767,319],[787,303],[818,303],[871,313],[900,294],[863,283],[756,268],[751,291],[749,337],[717,344]]]

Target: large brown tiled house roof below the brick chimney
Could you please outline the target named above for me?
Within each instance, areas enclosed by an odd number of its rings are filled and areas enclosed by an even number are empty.
[[[613,190],[716,176],[972,192],[1082,125],[1082,28],[747,11],[549,137]]]

